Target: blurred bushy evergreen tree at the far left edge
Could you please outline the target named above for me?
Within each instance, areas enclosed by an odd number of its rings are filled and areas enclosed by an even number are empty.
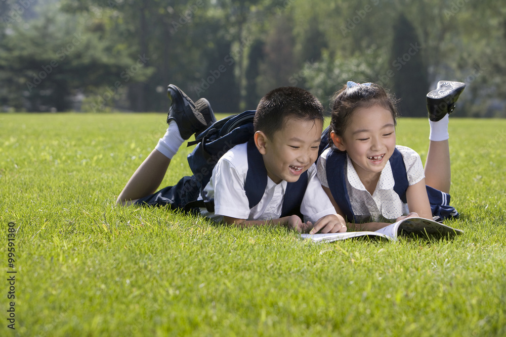
[[[110,31],[98,33],[94,22],[46,7],[39,18],[13,24],[0,47],[0,81],[8,83],[3,102],[28,111],[67,111],[72,95],[95,87],[102,88],[100,108],[132,71],[138,80],[152,71],[142,57],[126,55]]]

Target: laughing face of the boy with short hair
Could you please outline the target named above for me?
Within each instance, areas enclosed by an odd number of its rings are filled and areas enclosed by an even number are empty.
[[[267,175],[275,183],[294,182],[318,157],[323,124],[319,120],[287,117],[272,139],[265,136],[263,155]]]

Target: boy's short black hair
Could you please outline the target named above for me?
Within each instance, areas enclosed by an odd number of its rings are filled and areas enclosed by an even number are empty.
[[[323,123],[323,106],[313,94],[302,88],[283,86],[269,91],[258,104],[253,125],[256,131],[272,138],[289,116]]]

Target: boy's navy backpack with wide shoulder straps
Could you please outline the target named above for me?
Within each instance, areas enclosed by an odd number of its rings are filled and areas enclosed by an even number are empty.
[[[248,172],[244,189],[249,208],[258,205],[267,186],[267,170],[262,155],[258,152],[253,140],[254,116],[255,111],[249,110],[238,115],[225,117],[197,135],[194,141],[188,142],[188,146],[197,145],[188,155],[188,164],[201,194],[209,182],[218,160],[234,146],[247,142]],[[282,217],[291,214],[301,215],[300,205],[307,184],[307,171],[301,174],[298,181],[287,183],[283,198]],[[207,211],[214,212],[214,201],[197,200],[185,205],[185,211],[191,211],[195,208],[206,208]]]

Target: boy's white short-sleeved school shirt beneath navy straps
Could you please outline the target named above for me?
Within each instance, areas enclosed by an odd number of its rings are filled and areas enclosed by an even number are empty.
[[[269,220],[281,217],[281,207],[286,191],[286,181],[276,184],[267,177],[267,186],[260,203],[249,209],[249,202],[244,190],[246,173],[248,170],[247,143],[235,146],[220,158],[212,176],[199,199],[215,199],[215,212],[207,212],[205,208],[200,213],[217,222],[223,216],[246,220]],[[316,165],[308,170],[308,187],[301,205],[304,222],[313,224],[321,217],[336,214],[332,203],[321,187],[316,177]]]

